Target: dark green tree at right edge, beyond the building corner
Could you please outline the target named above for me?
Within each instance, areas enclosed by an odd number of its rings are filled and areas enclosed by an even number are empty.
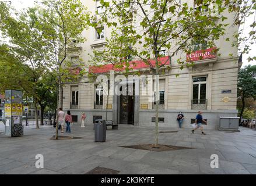
[[[248,65],[244,69],[239,70],[237,95],[241,98],[242,107],[240,111],[239,123],[243,116],[244,108],[246,107],[246,98],[256,99],[256,65]]]

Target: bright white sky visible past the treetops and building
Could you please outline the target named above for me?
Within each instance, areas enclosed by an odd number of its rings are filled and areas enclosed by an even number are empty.
[[[33,6],[33,3],[35,0],[9,0],[12,2],[12,6],[14,6],[16,9],[23,9],[23,8],[27,8],[29,6]],[[37,0],[40,1],[40,0]],[[251,17],[249,17],[249,19],[247,20],[246,24],[244,25],[244,33],[243,34],[248,34],[248,32],[250,31],[250,27],[249,25],[253,22],[254,20],[254,15],[252,15]],[[256,65],[256,61],[254,60],[253,62],[248,62],[247,58],[249,56],[253,56],[256,53],[256,44],[254,44],[253,46],[251,46],[251,51],[248,54],[243,54],[243,66],[245,67],[247,65]]]

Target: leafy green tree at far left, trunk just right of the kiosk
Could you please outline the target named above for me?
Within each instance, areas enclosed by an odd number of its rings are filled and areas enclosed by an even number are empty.
[[[9,40],[9,52],[22,64],[16,66],[15,69],[22,69],[23,76],[13,78],[16,78],[15,81],[27,95],[33,96],[36,127],[39,128],[36,88],[38,81],[46,70],[44,54],[48,53],[48,48],[43,33],[37,29],[39,25],[38,8],[28,8],[18,13],[8,3],[0,2],[0,19],[2,35]],[[16,73],[14,69],[12,70],[13,74]],[[13,74],[9,74],[9,76]]]

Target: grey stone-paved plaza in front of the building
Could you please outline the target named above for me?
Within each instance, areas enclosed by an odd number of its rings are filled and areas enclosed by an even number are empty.
[[[123,145],[152,144],[153,127],[119,126],[107,130],[107,141],[94,142],[93,126],[71,126],[79,140],[50,140],[52,126],[24,127],[24,136],[4,136],[0,123],[0,174],[85,174],[97,166],[120,174],[256,174],[256,131],[240,128],[240,133],[189,129],[160,133],[159,144],[194,149],[150,152],[122,148]],[[160,128],[160,131],[177,128]],[[67,135],[67,134],[64,134]],[[44,169],[36,169],[35,156],[44,156]],[[219,156],[219,169],[212,169],[212,154]]]

